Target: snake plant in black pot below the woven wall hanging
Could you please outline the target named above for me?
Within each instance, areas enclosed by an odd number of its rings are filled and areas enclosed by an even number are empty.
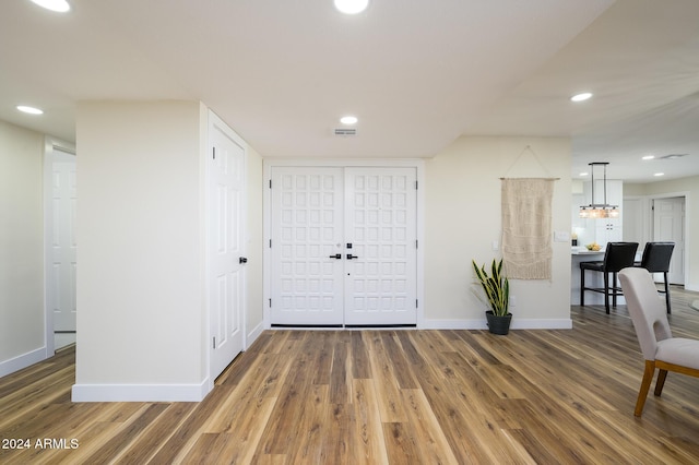
[[[510,331],[512,313],[509,312],[510,283],[502,273],[502,260],[500,259],[500,261],[497,262],[493,259],[489,276],[485,270],[485,264],[478,267],[475,260],[471,262],[473,263],[473,270],[481,283],[485,298],[483,298],[479,293],[477,293],[476,296],[490,308],[490,310],[485,312],[486,319],[488,320],[488,330],[493,334],[507,334]]]

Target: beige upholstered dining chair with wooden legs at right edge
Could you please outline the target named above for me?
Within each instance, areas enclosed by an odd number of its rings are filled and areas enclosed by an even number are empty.
[[[667,314],[648,270],[641,267],[621,270],[619,279],[645,359],[645,371],[633,410],[633,415],[640,417],[656,368],[660,370],[655,382],[657,396],[663,392],[668,371],[699,377],[699,339],[673,337]]]

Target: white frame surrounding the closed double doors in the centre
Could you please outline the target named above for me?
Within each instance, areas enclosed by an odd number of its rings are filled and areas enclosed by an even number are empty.
[[[264,176],[264,193],[263,204],[263,234],[264,234],[264,251],[263,251],[263,325],[265,329],[271,327],[270,320],[270,299],[271,299],[271,251],[270,240],[272,238],[272,196],[270,192],[270,182],[272,180],[272,167],[412,167],[417,171],[417,327],[425,326],[425,164],[422,159],[404,159],[404,158],[384,158],[384,159],[327,159],[327,158],[264,158],[262,163],[262,174]]]

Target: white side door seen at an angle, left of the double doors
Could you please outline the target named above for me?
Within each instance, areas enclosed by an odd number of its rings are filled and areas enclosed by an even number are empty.
[[[245,150],[213,123],[209,170],[209,308],[213,380],[244,347]]]

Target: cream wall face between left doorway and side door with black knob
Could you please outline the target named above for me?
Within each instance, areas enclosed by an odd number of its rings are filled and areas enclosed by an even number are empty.
[[[78,107],[74,400],[205,385],[205,121],[192,102]]]

